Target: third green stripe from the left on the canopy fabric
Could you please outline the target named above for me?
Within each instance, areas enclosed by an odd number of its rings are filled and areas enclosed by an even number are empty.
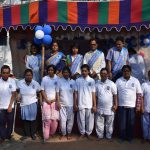
[[[99,3],[98,7],[98,23],[107,24],[108,23],[108,7],[109,3]]]

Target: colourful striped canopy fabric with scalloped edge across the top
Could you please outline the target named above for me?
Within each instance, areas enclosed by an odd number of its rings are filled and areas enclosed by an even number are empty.
[[[44,0],[0,7],[0,28],[50,24],[72,28],[149,27],[150,0],[62,2]]]

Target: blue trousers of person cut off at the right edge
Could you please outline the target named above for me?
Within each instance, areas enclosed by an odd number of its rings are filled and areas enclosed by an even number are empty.
[[[150,113],[144,112],[142,115],[143,138],[150,140]]]

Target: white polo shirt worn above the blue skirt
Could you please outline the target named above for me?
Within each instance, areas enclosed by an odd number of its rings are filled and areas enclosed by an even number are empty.
[[[17,84],[20,91],[21,103],[20,106],[26,106],[37,102],[37,92],[41,91],[41,87],[38,82],[32,80],[29,85],[25,80],[20,80]]]

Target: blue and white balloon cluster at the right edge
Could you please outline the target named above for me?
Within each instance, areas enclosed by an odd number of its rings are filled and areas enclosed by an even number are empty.
[[[140,45],[144,47],[150,46],[150,34],[140,36]]]

